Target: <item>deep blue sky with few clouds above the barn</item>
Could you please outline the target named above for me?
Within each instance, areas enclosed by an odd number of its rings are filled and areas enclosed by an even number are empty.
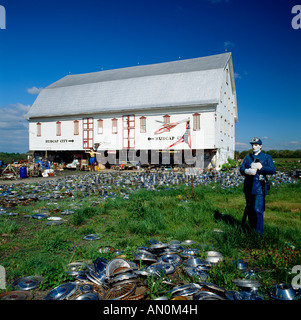
[[[301,29],[290,0],[0,0],[0,152],[28,151],[29,110],[65,75],[231,51],[236,149],[301,149]],[[301,23],[301,21],[299,21]]]

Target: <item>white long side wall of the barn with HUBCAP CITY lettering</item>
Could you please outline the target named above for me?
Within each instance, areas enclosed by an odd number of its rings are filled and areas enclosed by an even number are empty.
[[[200,130],[193,130],[194,113],[200,114]],[[133,113],[125,113],[131,115]],[[176,142],[186,131],[186,122],[179,123],[170,132],[155,134],[162,124],[163,116],[168,114],[170,122],[190,118],[192,149],[211,149],[215,147],[215,107],[199,106],[189,109],[168,109],[160,111],[135,112],[135,149],[166,149]],[[93,142],[98,143],[99,150],[123,149],[123,116],[124,114],[92,114],[94,122]],[[140,117],[146,117],[146,132],[140,132]],[[112,119],[117,119],[118,133],[112,133]],[[31,120],[29,123],[30,150],[83,150],[83,117],[58,117]],[[97,120],[103,120],[103,133],[97,132]],[[79,134],[74,135],[74,121],[79,121]],[[56,122],[61,122],[61,135],[56,135]],[[37,123],[41,123],[41,136],[37,136]],[[186,143],[173,147],[175,150],[189,149]]]

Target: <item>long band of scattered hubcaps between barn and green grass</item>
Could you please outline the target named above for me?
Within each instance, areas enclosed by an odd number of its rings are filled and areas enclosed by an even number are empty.
[[[177,172],[103,172],[86,175],[70,175],[47,179],[40,183],[0,184],[0,206],[13,207],[38,200],[80,198],[96,195],[101,201],[122,196],[128,199],[136,190],[162,190],[177,188],[180,185],[198,186],[213,183],[212,188],[239,186],[244,177],[235,170],[232,172],[210,171],[196,176]],[[296,179],[278,172],[271,178],[273,186],[283,183],[296,183]]]

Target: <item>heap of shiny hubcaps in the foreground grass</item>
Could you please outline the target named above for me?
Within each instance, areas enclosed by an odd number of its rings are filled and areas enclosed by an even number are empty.
[[[86,240],[98,240],[88,235]],[[94,237],[93,237],[94,236]],[[67,265],[66,273],[74,281],[62,283],[50,289],[44,300],[151,300],[150,287],[160,282],[167,288],[154,300],[296,300],[301,290],[290,284],[277,284],[267,294],[260,292],[261,284],[254,277],[255,272],[239,259],[234,261],[242,278],[234,279],[237,290],[225,290],[210,282],[209,271],[213,265],[223,261],[217,251],[204,251],[208,245],[198,245],[193,240],[162,243],[150,240],[148,247],[137,247],[133,261],[119,255],[108,261],[102,257],[93,262],[77,261]],[[212,249],[212,248],[211,248]],[[100,248],[109,252],[112,248]],[[204,259],[198,257],[203,253]],[[139,267],[140,266],[140,267]],[[190,283],[179,282],[184,272]],[[183,279],[183,277],[181,277]],[[175,279],[177,280],[175,282]],[[150,281],[148,281],[150,280]],[[28,300],[33,298],[31,290],[37,289],[44,281],[41,276],[29,276],[12,283],[15,291],[0,295],[4,300]]]

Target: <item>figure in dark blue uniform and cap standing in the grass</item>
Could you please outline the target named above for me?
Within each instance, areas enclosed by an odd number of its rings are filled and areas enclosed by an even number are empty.
[[[248,217],[251,227],[257,231],[259,236],[262,236],[265,196],[269,189],[266,175],[274,174],[276,170],[272,157],[261,152],[262,141],[255,137],[250,144],[253,153],[245,157],[240,167],[240,173],[245,176],[244,193],[246,197],[242,224]]]

